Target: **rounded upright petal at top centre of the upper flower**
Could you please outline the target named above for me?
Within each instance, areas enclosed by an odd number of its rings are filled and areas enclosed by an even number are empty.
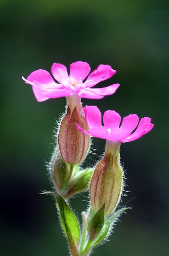
[[[70,65],[70,78],[83,81],[90,72],[90,66],[87,62],[76,61]]]

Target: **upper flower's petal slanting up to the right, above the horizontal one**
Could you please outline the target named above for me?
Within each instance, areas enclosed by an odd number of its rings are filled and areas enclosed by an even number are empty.
[[[99,65],[96,70],[89,74],[87,80],[85,81],[85,87],[90,88],[101,81],[109,79],[116,73],[116,70],[113,70],[109,65]]]

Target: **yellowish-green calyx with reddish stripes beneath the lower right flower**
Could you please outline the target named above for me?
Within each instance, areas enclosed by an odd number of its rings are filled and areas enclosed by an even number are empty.
[[[105,216],[111,214],[122,192],[122,168],[118,156],[108,153],[95,167],[90,184],[91,207],[97,212],[105,203]]]

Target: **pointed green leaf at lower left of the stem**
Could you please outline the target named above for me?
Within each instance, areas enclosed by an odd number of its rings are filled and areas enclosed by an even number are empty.
[[[78,220],[64,199],[60,195],[55,194],[55,196],[60,212],[62,228],[69,240],[71,254],[72,256],[79,256],[78,246],[80,242],[80,227]]]

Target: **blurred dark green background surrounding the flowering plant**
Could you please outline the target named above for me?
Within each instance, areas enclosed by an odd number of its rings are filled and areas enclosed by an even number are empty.
[[[1,0],[0,1],[0,255],[66,256],[67,243],[51,197],[45,164],[53,150],[53,124],[65,99],[38,103],[27,76],[53,62],[69,69],[87,61],[94,70],[109,64],[117,73],[99,86],[120,83],[99,101],[103,113],[151,117],[153,130],[122,144],[127,170],[123,214],[109,242],[93,255],[169,255],[169,2],[167,0]],[[93,140],[94,164],[105,141]],[[84,197],[85,196],[85,197]],[[86,209],[87,194],[71,200]],[[132,199],[132,200],[131,200]]]

